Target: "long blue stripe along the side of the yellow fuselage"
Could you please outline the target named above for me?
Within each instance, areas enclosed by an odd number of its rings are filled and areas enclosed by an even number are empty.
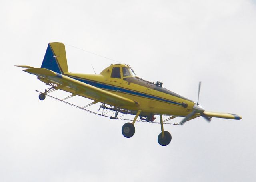
[[[144,93],[141,93],[141,92],[135,92],[133,90],[128,90],[128,89],[125,89],[125,88],[122,88],[122,87],[112,86],[112,85],[108,85],[108,84],[102,84],[102,83],[99,83],[99,82],[94,82],[92,80],[85,80],[85,79],[78,78],[78,77],[73,77],[73,76],[70,76],[70,75],[66,75],[66,76],[71,77],[71,78],[73,78],[75,80],[78,80],[80,82],[84,82],[86,84],[95,86],[97,88],[102,88],[104,90],[111,90],[111,91],[120,90],[121,92],[123,92],[125,94],[132,94],[132,95],[136,95],[136,96],[142,96],[142,97],[151,98],[151,99],[155,99],[155,100],[159,100],[159,101],[163,101],[163,102],[168,102],[168,103],[171,103],[171,104],[176,104],[176,105],[181,106],[181,103],[174,102],[172,100],[166,100],[166,99],[163,99],[163,98],[159,98],[159,97],[156,97],[156,96],[151,96],[151,95],[144,94]]]

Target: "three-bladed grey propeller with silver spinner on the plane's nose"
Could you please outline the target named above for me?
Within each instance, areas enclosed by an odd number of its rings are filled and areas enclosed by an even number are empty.
[[[180,122],[181,125],[183,125],[184,123],[186,123],[187,121],[190,120],[190,117],[192,117],[194,114],[196,113],[200,113],[200,115],[206,119],[206,121],[210,122],[212,118],[208,117],[206,114],[204,114],[204,108],[202,106],[199,105],[199,94],[200,94],[200,88],[201,88],[201,82],[199,82],[199,86],[198,86],[198,97],[197,97],[197,103],[194,104],[193,106],[193,111],[190,112],[186,117],[184,117],[184,119],[182,119],[182,121]]]

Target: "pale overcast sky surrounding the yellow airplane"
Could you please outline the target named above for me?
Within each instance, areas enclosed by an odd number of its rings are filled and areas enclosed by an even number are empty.
[[[0,2],[0,20],[1,182],[256,180],[255,0],[10,0]],[[13,65],[40,67],[48,42],[66,44],[72,72],[115,62],[68,45],[130,64],[192,100],[202,81],[206,110],[243,119],[165,125],[166,147],[158,124],[136,123],[124,138],[124,121],[38,99],[45,85]]]

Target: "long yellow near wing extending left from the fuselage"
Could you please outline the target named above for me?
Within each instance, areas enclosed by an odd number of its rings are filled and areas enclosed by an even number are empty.
[[[23,71],[37,75],[39,76],[39,79],[44,79],[49,83],[58,84],[61,89],[63,87],[68,87],[69,89],[74,90],[77,95],[85,96],[87,98],[96,100],[97,102],[110,104],[112,106],[139,106],[138,102],[129,98],[113,94],[106,90],[97,88],[84,82],[80,82],[45,68],[29,68]]]

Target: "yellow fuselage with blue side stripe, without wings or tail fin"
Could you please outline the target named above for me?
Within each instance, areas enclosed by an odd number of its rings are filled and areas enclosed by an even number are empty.
[[[138,106],[136,107],[122,106],[122,109],[132,111],[142,110],[144,113],[149,114],[177,116],[186,116],[189,112],[192,111],[195,102],[179,96],[173,92],[171,92],[173,94],[165,93],[162,91],[164,88],[156,90],[154,89],[156,86],[151,82],[147,82],[138,77],[130,78],[129,76],[112,78],[110,73],[112,71],[112,67],[114,66],[124,67],[126,65],[111,65],[110,67],[103,70],[100,74],[64,73],[64,75],[138,102]],[[131,79],[135,80],[136,83],[131,82]],[[143,84],[140,84],[140,82],[143,82]],[[70,88],[63,88],[61,90],[65,90],[71,93],[75,92],[75,90]],[[79,95],[88,98],[86,95]],[[187,104],[187,106],[182,105],[182,102]]]

